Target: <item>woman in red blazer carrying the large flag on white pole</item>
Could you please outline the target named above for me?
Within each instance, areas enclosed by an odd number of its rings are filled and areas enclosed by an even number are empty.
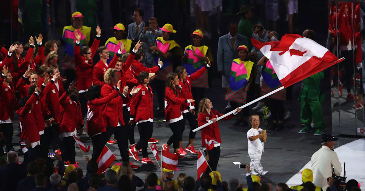
[[[209,166],[212,168],[212,170],[216,171],[220,155],[220,143],[222,143],[222,140],[220,139],[219,124],[217,122],[217,118],[222,116],[223,114],[220,114],[217,110],[212,110],[212,108],[213,103],[210,101],[210,99],[203,98],[202,100],[200,100],[198,125],[202,126],[210,121],[213,122],[209,126],[201,129],[201,146],[203,146],[205,155],[209,156]],[[233,115],[237,115],[238,112],[240,112],[242,109],[237,107],[236,110],[237,111],[234,112]],[[222,120],[230,120],[233,115],[228,115]],[[212,148],[211,150],[205,149],[205,135],[215,139],[215,142],[218,142],[214,144],[214,148]],[[205,171],[206,174],[209,174],[210,172],[210,168],[207,168],[207,171]]]

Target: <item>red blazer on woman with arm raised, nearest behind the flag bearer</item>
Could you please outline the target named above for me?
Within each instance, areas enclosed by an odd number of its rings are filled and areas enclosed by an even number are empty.
[[[189,76],[186,76],[186,79],[183,81],[179,81],[179,87],[181,88],[181,98],[184,99],[193,99],[193,95],[191,93],[191,82],[197,78],[199,78],[203,73],[207,71],[207,66],[200,68],[198,71],[192,73]],[[195,106],[194,102],[191,103],[192,106]],[[190,103],[183,104],[183,111],[188,110]]]

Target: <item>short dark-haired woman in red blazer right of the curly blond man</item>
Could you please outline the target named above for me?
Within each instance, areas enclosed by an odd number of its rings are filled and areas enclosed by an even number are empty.
[[[129,152],[132,157],[140,161],[138,158],[138,150],[142,149],[142,163],[153,164],[153,161],[148,157],[147,144],[153,132],[153,93],[150,83],[149,73],[142,71],[138,75],[137,88],[141,88],[139,92],[131,99],[130,121],[137,123],[139,132],[139,141],[134,148],[130,148]]]

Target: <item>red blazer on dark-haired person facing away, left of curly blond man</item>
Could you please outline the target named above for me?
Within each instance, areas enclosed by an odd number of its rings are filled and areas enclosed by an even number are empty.
[[[87,131],[89,137],[107,131],[103,118],[103,105],[118,96],[119,91],[113,90],[112,93],[104,98],[96,98],[88,101]]]

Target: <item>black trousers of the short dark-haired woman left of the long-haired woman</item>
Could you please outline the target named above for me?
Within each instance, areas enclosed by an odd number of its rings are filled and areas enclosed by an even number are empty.
[[[147,144],[148,144],[148,139],[152,137],[153,122],[138,123],[137,127],[139,132],[139,140],[136,144],[135,149],[138,151],[142,148],[142,156],[143,158],[145,158],[148,156]]]

